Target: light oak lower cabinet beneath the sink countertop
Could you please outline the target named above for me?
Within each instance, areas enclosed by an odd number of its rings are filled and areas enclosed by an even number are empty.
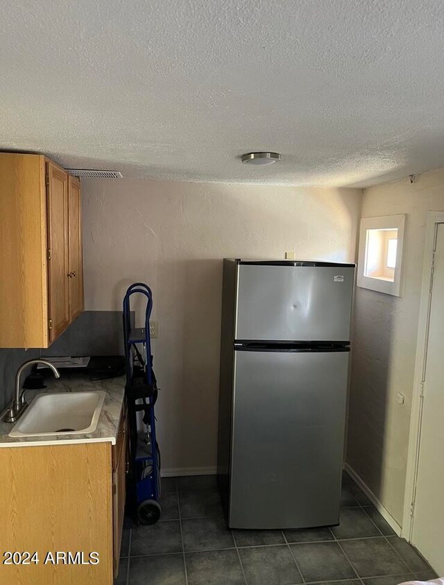
[[[125,505],[124,435],[118,457],[118,443],[0,448],[1,585],[112,584]],[[18,553],[11,564],[8,552]]]

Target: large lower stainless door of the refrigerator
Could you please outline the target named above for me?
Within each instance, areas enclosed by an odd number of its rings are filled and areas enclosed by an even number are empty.
[[[349,355],[235,351],[230,527],[339,523]]]

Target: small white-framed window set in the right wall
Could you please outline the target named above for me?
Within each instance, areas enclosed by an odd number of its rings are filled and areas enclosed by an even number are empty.
[[[357,285],[400,296],[404,215],[361,220]]]

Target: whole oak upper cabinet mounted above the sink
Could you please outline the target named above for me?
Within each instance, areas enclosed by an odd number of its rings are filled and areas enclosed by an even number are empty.
[[[0,153],[0,348],[46,348],[83,310],[80,226],[76,178]]]

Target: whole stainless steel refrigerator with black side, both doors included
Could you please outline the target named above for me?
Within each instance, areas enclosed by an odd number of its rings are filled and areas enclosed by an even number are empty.
[[[223,262],[219,485],[232,528],[339,523],[355,264]]]

